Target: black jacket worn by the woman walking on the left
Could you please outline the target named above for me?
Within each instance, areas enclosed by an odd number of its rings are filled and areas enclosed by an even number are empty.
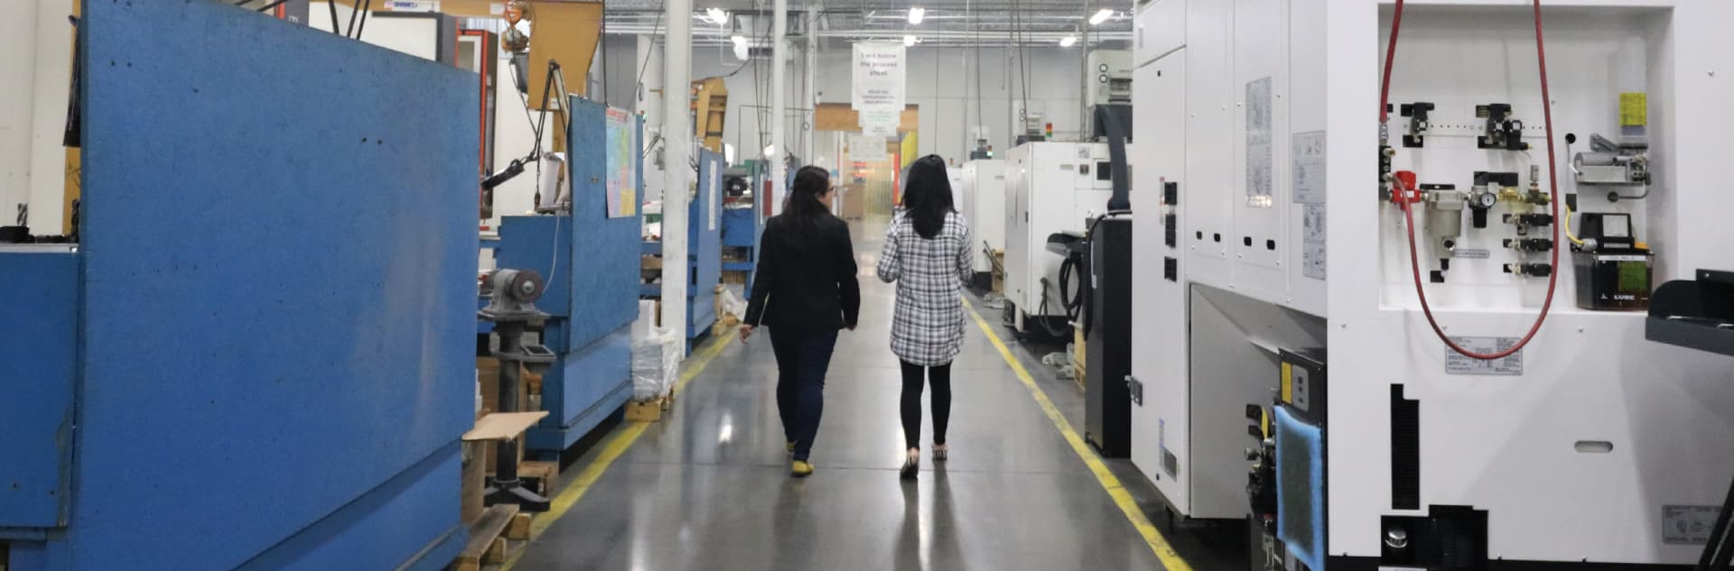
[[[855,325],[862,289],[855,279],[850,225],[825,216],[805,247],[792,247],[782,216],[765,221],[758,275],[747,303],[747,325],[838,330]]]

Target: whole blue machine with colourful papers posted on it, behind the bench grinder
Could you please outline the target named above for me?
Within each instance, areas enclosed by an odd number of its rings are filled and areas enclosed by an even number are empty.
[[[605,106],[574,97],[570,149],[605,149]],[[643,128],[642,119],[635,125]],[[643,159],[633,159],[635,196],[642,196]],[[572,152],[567,164],[572,211],[503,216],[494,251],[496,266],[536,270],[548,284],[536,306],[550,315],[543,344],[558,360],[543,374],[548,417],[527,436],[527,448],[544,459],[558,457],[631,398],[631,324],[638,318],[640,216],[609,218],[603,152]]]

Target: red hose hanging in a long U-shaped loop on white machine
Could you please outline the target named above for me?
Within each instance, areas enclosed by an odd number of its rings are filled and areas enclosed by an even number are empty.
[[[1398,31],[1401,29],[1401,26],[1403,26],[1403,0],[1396,0],[1396,9],[1394,9],[1394,14],[1391,17],[1391,43],[1385,47],[1385,76],[1384,76],[1384,81],[1379,87],[1379,125],[1380,126],[1384,126],[1385,121],[1391,116],[1389,111],[1385,109],[1385,106],[1389,106],[1389,100],[1391,100],[1391,66],[1392,66],[1392,62],[1396,62],[1396,55],[1398,55]],[[1542,119],[1547,123],[1547,180],[1548,180],[1548,197],[1550,197],[1548,208],[1554,213],[1554,220],[1561,220],[1559,218],[1559,175],[1554,170],[1554,164],[1559,164],[1557,159],[1555,159],[1555,156],[1554,156],[1554,104],[1552,104],[1552,99],[1548,97],[1548,92],[1547,92],[1547,48],[1543,47],[1543,42],[1542,42],[1542,0],[1535,0],[1535,57],[1536,57],[1536,62],[1538,62],[1538,66],[1542,69]],[[1411,190],[1411,189],[1406,189],[1403,185],[1401,178],[1394,178],[1392,176],[1392,183],[1396,185],[1398,196],[1403,196],[1403,192]],[[1550,251],[1550,268],[1552,270],[1547,273],[1547,299],[1542,301],[1542,313],[1535,317],[1535,325],[1529,325],[1529,332],[1526,332],[1522,336],[1522,339],[1519,339],[1510,348],[1505,348],[1503,351],[1496,351],[1496,353],[1476,353],[1476,351],[1465,350],[1463,346],[1457,344],[1457,341],[1451,341],[1451,337],[1444,334],[1444,329],[1439,327],[1439,320],[1436,320],[1432,317],[1432,306],[1427,305],[1427,289],[1422,287],[1422,280],[1420,280],[1420,258],[1415,254],[1415,215],[1410,209],[1410,201],[1398,201],[1398,204],[1403,206],[1403,221],[1405,221],[1406,230],[1408,230],[1410,273],[1415,279],[1415,294],[1420,296],[1420,311],[1427,315],[1427,325],[1431,325],[1432,332],[1436,336],[1439,336],[1439,341],[1444,341],[1444,346],[1451,348],[1451,351],[1457,351],[1457,353],[1460,353],[1463,356],[1479,358],[1479,360],[1505,358],[1505,356],[1510,356],[1512,353],[1517,353],[1526,344],[1529,344],[1529,339],[1535,339],[1535,334],[1538,330],[1542,330],[1542,324],[1547,322],[1547,313],[1554,306],[1554,289],[1555,289],[1555,286],[1559,286],[1559,272],[1561,272],[1561,268],[1559,268],[1559,247],[1561,247],[1559,246],[1559,242],[1561,242],[1559,241],[1559,225],[1550,225],[1548,227],[1550,228],[1550,235],[1554,239],[1554,247]]]

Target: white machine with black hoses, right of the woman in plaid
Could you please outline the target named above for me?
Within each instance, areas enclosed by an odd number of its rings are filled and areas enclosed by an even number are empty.
[[[1032,318],[1066,315],[1059,296],[1065,258],[1047,251],[1047,237],[1082,235],[1089,218],[1108,211],[1111,194],[1108,144],[1030,142],[1006,152],[1006,299],[1016,330],[1030,330]]]

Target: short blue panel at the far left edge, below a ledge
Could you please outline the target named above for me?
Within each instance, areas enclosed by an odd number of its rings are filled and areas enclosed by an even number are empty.
[[[0,528],[59,528],[73,452],[78,254],[0,253],[0,275],[9,332],[0,343]]]

